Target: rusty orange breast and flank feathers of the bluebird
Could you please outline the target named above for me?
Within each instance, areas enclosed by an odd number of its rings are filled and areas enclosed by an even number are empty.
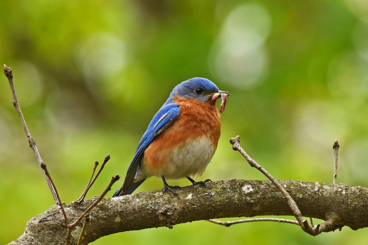
[[[169,128],[153,139],[144,152],[142,163],[145,165],[147,175],[162,176],[165,166],[170,164],[173,149],[185,148],[188,142],[198,138],[208,137],[209,140],[206,142],[212,143],[212,155],[217,148],[221,122],[216,101],[203,102],[176,97],[174,102],[180,104],[180,114],[173,120]],[[185,165],[185,162],[175,162],[175,164]]]

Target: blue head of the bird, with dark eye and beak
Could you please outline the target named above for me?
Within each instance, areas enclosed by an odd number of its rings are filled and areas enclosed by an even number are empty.
[[[170,93],[170,98],[180,96],[194,98],[198,101],[208,101],[215,93],[227,92],[219,90],[215,83],[206,78],[191,78],[174,87]]]

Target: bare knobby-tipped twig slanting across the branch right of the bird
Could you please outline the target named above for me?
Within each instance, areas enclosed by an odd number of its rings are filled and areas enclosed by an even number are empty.
[[[302,218],[301,212],[296,204],[296,202],[291,198],[289,193],[282,187],[282,185],[277,181],[269,172],[267,172],[261,165],[259,165],[256,161],[254,161],[240,146],[240,136],[236,136],[235,138],[230,139],[230,144],[234,151],[239,151],[241,155],[248,161],[248,163],[252,166],[261,171],[272,183],[281,191],[284,197],[287,199],[287,203],[294,214],[294,217],[297,219],[300,227],[303,231],[310,235],[318,235],[325,231],[336,230],[335,227],[335,220],[338,219],[336,215],[329,215],[329,219],[326,220],[321,225],[317,225],[312,227],[309,225],[308,221]],[[323,227],[321,229],[321,227]]]

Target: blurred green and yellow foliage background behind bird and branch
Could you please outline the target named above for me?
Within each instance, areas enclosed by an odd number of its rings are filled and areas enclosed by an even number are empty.
[[[100,195],[111,176],[124,177],[152,116],[174,86],[194,76],[231,94],[203,179],[265,179],[231,149],[229,138],[240,135],[248,154],[277,179],[331,183],[337,138],[337,181],[368,185],[366,0],[5,0],[0,33],[1,62],[13,68],[26,122],[66,203],[79,197],[93,162],[107,154],[111,160],[87,198]],[[5,76],[0,89],[0,244],[6,244],[54,201]],[[138,191],[160,188],[153,177]],[[366,229],[348,227],[311,237],[290,224],[225,228],[198,221],[93,244],[367,239]]]

